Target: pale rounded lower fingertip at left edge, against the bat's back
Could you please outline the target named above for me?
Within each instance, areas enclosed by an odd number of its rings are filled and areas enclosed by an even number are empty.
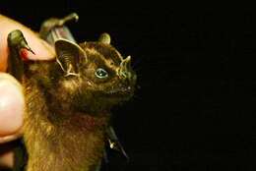
[[[0,73],[0,137],[22,127],[24,105],[22,86],[10,75]]]

